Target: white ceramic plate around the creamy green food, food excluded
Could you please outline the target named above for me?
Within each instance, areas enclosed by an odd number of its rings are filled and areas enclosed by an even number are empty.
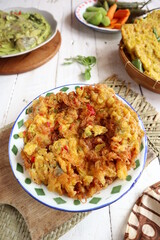
[[[43,46],[44,44],[48,43],[55,35],[57,32],[57,21],[54,19],[53,15],[47,11],[43,11],[43,10],[39,10],[37,8],[22,8],[22,7],[15,7],[15,8],[7,8],[4,9],[4,12],[10,12],[10,11],[21,11],[21,12],[29,12],[29,13],[39,13],[42,16],[45,17],[45,19],[48,21],[49,25],[51,26],[51,34],[49,35],[49,37],[42,42],[41,44],[37,45],[34,48],[31,48],[29,50],[23,51],[23,52],[18,52],[18,53],[14,53],[14,54],[8,54],[8,55],[3,55],[0,56],[0,58],[7,58],[7,57],[15,57],[15,56],[19,56],[25,53],[29,53],[41,46]]]

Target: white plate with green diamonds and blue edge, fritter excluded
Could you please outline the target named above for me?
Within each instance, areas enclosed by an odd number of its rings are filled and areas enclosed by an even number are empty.
[[[61,87],[51,89],[48,92],[42,94],[70,92],[75,91],[77,86],[84,86],[84,84],[70,84]],[[117,96],[124,104],[131,107],[124,99]],[[38,98],[38,97],[37,97]],[[28,172],[24,168],[23,160],[21,158],[21,149],[24,146],[23,139],[17,138],[18,133],[25,130],[24,122],[27,120],[28,115],[26,109],[31,106],[32,102],[29,103],[23,111],[18,116],[15,124],[12,128],[10,139],[9,139],[9,161],[12,171],[20,183],[20,185],[29,193],[33,198],[39,202],[58,210],[72,211],[72,212],[84,212],[91,211],[98,208],[105,207],[111,203],[120,199],[124,194],[126,194],[137,182],[140,177],[147,156],[147,138],[143,137],[141,143],[141,151],[136,159],[136,168],[128,172],[126,180],[115,180],[106,189],[101,190],[100,193],[95,194],[93,197],[88,198],[85,203],[81,203],[79,200],[74,200],[66,196],[59,196],[57,193],[49,192],[44,185],[37,185],[32,182]],[[139,124],[142,129],[143,123],[139,118]]]

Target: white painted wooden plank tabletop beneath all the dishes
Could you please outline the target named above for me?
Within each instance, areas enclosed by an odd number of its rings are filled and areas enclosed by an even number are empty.
[[[121,34],[95,32],[81,25],[74,16],[75,7],[83,0],[0,0],[0,9],[8,7],[36,7],[51,12],[58,21],[62,45],[58,54],[45,65],[18,75],[0,76],[0,127],[15,121],[21,110],[42,92],[55,86],[84,82],[82,68],[64,66],[64,58],[76,55],[93,55],[97,64],[92,70],[91,83],[102,82],[113,73],[131,88],[143,94],[160,112],[160,94],[155,94],[134,83],[124,70],[118,53]],[[160,7],[159,0],[152,0],[150,9]],[[122,240],[127,219],[136,199],[149,185],[160,180],[160,166],[155,159],[142,173],[135,187],[109,207],[90,213],[60,240]]]

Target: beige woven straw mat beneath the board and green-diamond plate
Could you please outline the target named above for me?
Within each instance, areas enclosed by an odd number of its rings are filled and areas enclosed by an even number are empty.
[[[148,136],[148,145],[151,156],[149,161],[160,157],[160,115],[143,96],[130,89],[129,84],[113,75],[105,83],[114,88],[115,92],[125,98],[140,115]],[[149,156],[149,155],[148,155]],[[77,213],[69,221],[52,231],[43,240],[56,240],[69,229],[80,222],[88,213]],[[0,206],[0,239],[1,240],[30,240],[30,233],[21,214],[9,205]]]

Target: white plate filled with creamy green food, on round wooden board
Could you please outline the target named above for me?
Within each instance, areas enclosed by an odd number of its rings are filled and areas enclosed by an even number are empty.
[[[57,32],[57,21],[47,11],[36,8],[8,8],[0,11],[0,58],[29,53]]]

